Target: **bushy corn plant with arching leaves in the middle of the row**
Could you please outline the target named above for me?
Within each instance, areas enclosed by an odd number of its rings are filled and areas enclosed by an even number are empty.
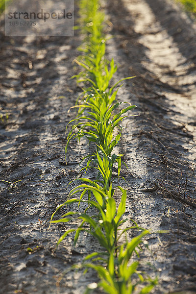
[[[136,106],[130,105],[128,102],[123,102],[129,104],[129,106],[115,115],[114,111],[122,102],[115,102],[108,105],[106,98],[107,95],[100,101],[100,98],[91,97],[88,102],[75,106],[80,108],[80,114],[70,122],[73,123],[76,121],[68,135],[68,143],[65,151],[67,151],[71,139],[86,137],[89,141],[95,142],[97,146],[100,145],[108,156],[111,155],[114,146],[117,144],[116,142],[118,142],[121,137],[122,127],[120,122],[127,117],[123,116],[123,114]],[[85,115],[81,115],[81,109],[86,109]],[[119,129],[119,134],[116,139],[113,140],[115,128]],[[75,129],[76,132],[74,132]]]

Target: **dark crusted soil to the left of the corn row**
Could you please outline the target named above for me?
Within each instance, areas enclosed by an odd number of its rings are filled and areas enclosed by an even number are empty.
[[[84,235],[75,250],[72,237],[55,250],[62,233],[76,224],[48,230],[51,214],[66,200],[66,187],[78,175],[78,163],[85,152],[82,146],[71,144],[71,165],[62,166],[65,127],[75,115],[68,115],[68,109],[80,92],[70,79],[75,73],[72,60],[78,54],[75,49],[80,41],[76,36],[5,38],[2,42],[1,111],[9,117],[0,125],[0,179],[21,181],[16,187],[0,182],[0,293],[54,294],[58,290],[56,277],[81,261],[93,245],[91,238]],[[64,210],[60,215],[63,213]],[[84,291],[90,281],[80,276],[80,272],[69,272],[59,291]]]

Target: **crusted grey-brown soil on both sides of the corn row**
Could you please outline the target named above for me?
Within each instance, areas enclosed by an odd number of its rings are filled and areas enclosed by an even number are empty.
[[[128,191],[124,225],[134,220],[153,232],[140,256],[140,270],[159,276],[153,294],[194,294],[196,26],[170,0],[109,0],[105,9],[113,36],[107,57],[119,64],[115,79],[137,76],[118,97],[137,105],[118,147],[128,165],[121,180]],[[67,185],[81,176],[81,158],[93,148],[72,142],[65,165],[65,128],[75,115],[68,110],[81,93],[71,77],[82,38],[77,32],[4,37],[2,24],[0,31],[0,294],[83,293],[98,281],[94,272],[59,276],[99,245],[84,234],[73,247],[70,235],[56,249],[62,233],[78,223],[49,229],[51,214],[76,183]],[[66,209],[73,207],[57,217]]]

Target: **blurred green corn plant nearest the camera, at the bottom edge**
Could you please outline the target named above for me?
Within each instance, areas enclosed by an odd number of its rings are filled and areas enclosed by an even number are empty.
[[[135,290],[138,294],[147,294],[157,284],[157,278],[145,279],[140,271],[137,270],[139,263],[133,262],[130,264],[130,259],[136,248],[142,243],[142,238],[149,234],[149,231],[144,230],[139,236],[133,238],[131,242],[126,242],[118,249],[117,254],[111,252],[109,255],[108,266],[103,267],[95,263],[84,263],[84,267],[94,269],[97,271],[100,278],[98,285],[93,287],[96,289],[100,287],[107,294],[134,294]],[[85,258],[85,261],[94,258],[96,254],[91,254]],[[137,282],[132,281],[133,275],[138,275]],[[136,279],[135,279],[136,280]],[[138,285],[144,285],[138,291]],[[97,287],[96,287],[97,286]],[[85,294],[91,293],[91,288],[87,288]]]

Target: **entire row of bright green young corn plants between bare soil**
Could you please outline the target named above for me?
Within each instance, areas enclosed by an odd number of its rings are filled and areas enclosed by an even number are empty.
[[[80,233],[88,232],[103,248],[102,252],[96,251],[86,256],[82,263],[82,267],[86,270],[90,268],[96,270],[100,278],[98,285],[93,283],[88,287],[86,293],[90,293],[98,286],[108,294],[132,294],[135,291],[147,294],[156,284],[156,280],[144,278],[144,275],[137,271],[138,261],[131,262],[131,258],[134,253],[139,255],[142,239],[149,234],[149,231],[138,227],[134,222],[132,227],[123,229],[123,223],[126,221],[123,220],[126,190],[118,184],[115,187],[112,179],[112,170],[115,165],[118,167],[118,182],[121,177],[123,154],[115,154],[114,150],[119,144],[123,130],[120,123],[128,116],[127,112],[136,107],[126,101],[119,102],[117,93],[119,87],[122,86],[121,82],[132,77],[123,78],[110,86],[117,66],[113,59],[108,61],[105,58],[105,36],[103,34],[105,15],[98,0],[80,0],[79,11],[84,42],[79,48],[82,55],[75,62],[83,70],[74,77],[78,83],[83,84],[83,93],[74,106],[77,114],[70,122],[72,128],[68,134],[65,152],[73,139],[80,140],[85,137],[89,143],[93,143],[94,153],[82,159],[87,163],[81,171],[86,172],[93,169],[97,171],[97,178],[94,181],[86,177],[76,179],[80,182],[79,185],[70,191],[68,200],[58,206],[51,217],[51,223],[81,221],[77,229],[66,231],[60,237],[57,245],[73,232],[75,245]],[[117,111],[123,103],[126,104],[126,107]],[[121,201],[117,207],[115,196],[119,194],[121,194]],[[77,195],[78,197],[75,197]],[[61,219],[53,220],[55,213],[62,206],[74,203],[78,203],[79,206],[81,202],[86,203],[83,213],[75,209],[75,211],[64,214]],[[95,211],[93,216],[89,211],[90,208]],[[126,232],[130,229],[140,230],[140,233],[128,241]],[[122,241],[124,239],[125,242]],[[141,284],[141,288],[137,287],[138,284]]]

